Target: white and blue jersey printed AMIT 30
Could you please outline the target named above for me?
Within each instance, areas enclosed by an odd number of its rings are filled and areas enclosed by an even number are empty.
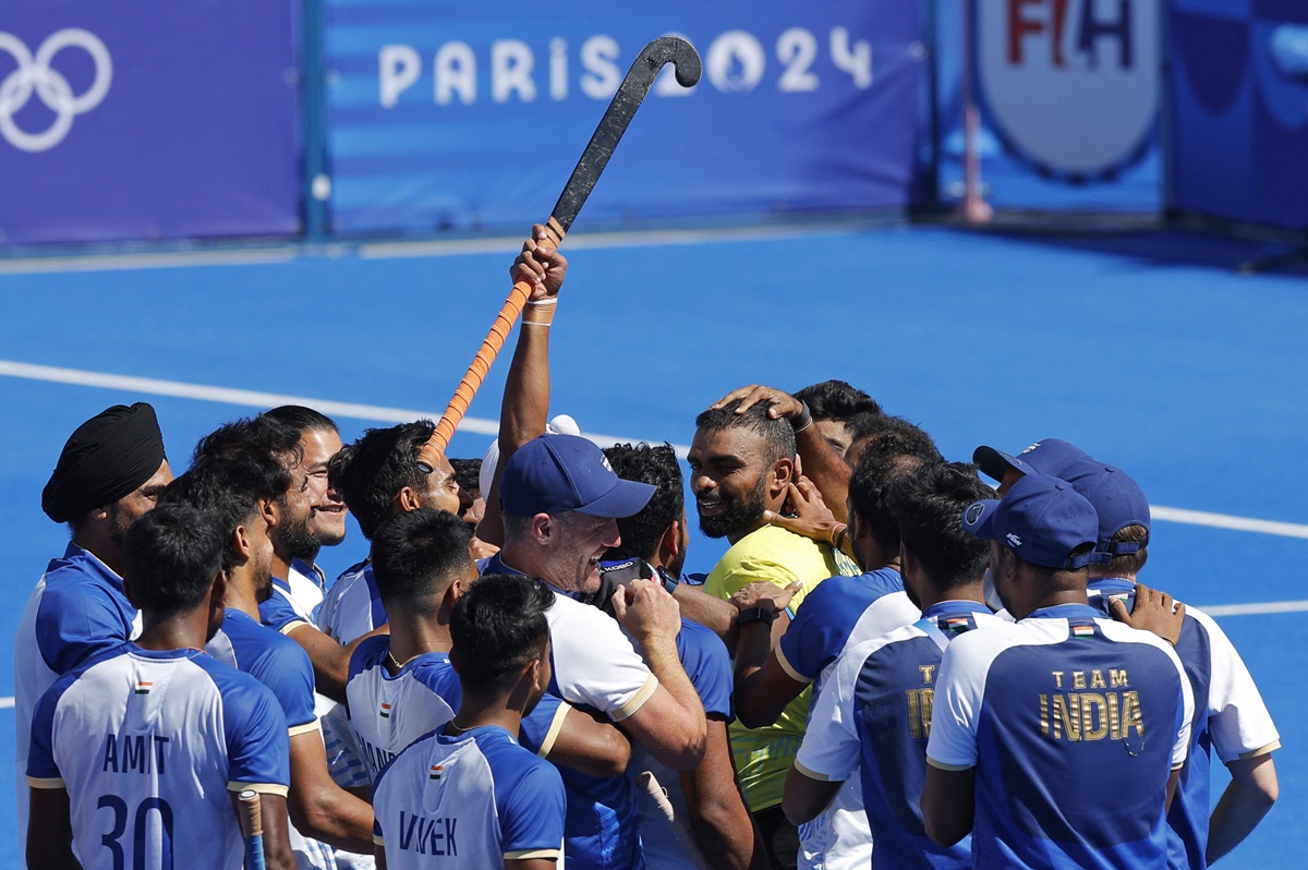
[[[37,706],[27,781],[68,790],[88,870],[237,870],[230,792],[286,794],[286,720],[249,674],[192,649],[127,642]]]

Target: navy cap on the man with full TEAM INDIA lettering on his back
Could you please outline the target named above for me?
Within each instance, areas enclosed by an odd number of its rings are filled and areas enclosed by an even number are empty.
[[[998,540],[1024,561],[1059,570],[1075,570],[1108,560],[1093,548],[1099,534],[1095,508],[1071,484],[1042,474],[1027,474],[1003,500],[974,501],[963,512],[963,529],[976,538]]]

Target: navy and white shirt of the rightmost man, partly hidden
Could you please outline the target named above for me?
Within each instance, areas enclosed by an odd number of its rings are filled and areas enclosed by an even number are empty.
[[[1091,604],[1104,614],[1109,614],[1108,603],[1113,598],[1122,599],[1130,610],[1135,583],[1120,578],[1092,580],[1090,595]],[[1181,780],[1167,814],[1168,865],[1203,870],[1207,866],[1214,750],[1227,764],[1279,748],[1281,735],[1249,669],[1211,616],[1194,607],[1185,608],[1176,654],[1194,692],[1194,720],[1190,723],[1190,760],[1181,768]]]

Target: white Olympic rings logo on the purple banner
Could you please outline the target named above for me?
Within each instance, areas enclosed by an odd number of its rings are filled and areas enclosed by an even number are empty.
[[[95,64],[95,78],[82,94],[51,61],[64,48],[81,48]],[[114,80],[114,61],[99,37],[81,27],[58,30],[41,43],[37,54],[12,33],[0,31],[0,52],[7,52],[18,68],[0,80],[0,137],[20,150],[50,150],[68,136],[73,118],[85,115],[105,99]],[[29,133],[14,120],[33,94],[55,113],[54,123],[39,133]]]

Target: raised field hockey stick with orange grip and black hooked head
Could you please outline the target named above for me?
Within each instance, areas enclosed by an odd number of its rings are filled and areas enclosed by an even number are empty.
[[[581,207],[586,203],[586,198],[590,196],[590,191],[594,190],[595,182],[599,181],[599,174],[608,165],[608,158],[613,156],[613,149],[617,147],[619,140],[621,140],[623,133],[627,132],[627,127],[632,123],[632,118],[636,115],[636,110],[640,109],[641,101],[645,99],[645,94],[649,93],[650,86],[654,84],[654,78],[658,77],[663,65],[668,63],[676,68],[676,81],[683,88],[689,88],[700,80],[700,55],[696,54],[695,48],[685,39],[679,37],[659,37],[641,50],[641,54],[636,58],[636,63],[632,64],[632,68],[627,72],[627,77],[623,78],[623,84],[617,88],[613,102],[608,105],[608,110],[600,118],[599,127],[595,128],[595,133],[590,137],[590,143],[586,145],[586,150],[582,152],[581,160],[577,161],[576,169],[573,169],[568,183],[564,186],[564,192],[559,196],[559,201],[555,203],[555,208],[549,213],[549,220],[545,222],[545,232],[556,247],[564,241],[564,235],[572,228],[577,212],[581,211]],[[445,447],[449,446],[454,430],[458,428],[459,421],[463,420],[468,406],[472,404],[472,396],[481,387],[481,381],[485,379],[487,372],[490,370],[490,364],[494,362],[500,348],[504,347],[504,340],[509,336],[514,322],[522,314],[528,296],[531,296],[531,284],[517,281],[513,285],[513,292],[509,293],[504,307],[496,314],[490,331],[481,341],[481,347],[472,358],[472,364],[468,365],[467,374],[459,381],[459,386],[454,390],[454,396],[450,399],[449,407],[436,424],[436,432],[432,433],[432,438],[422,446],[419,454],[419,463],[428,468],[434,468],[439,462],[439,455],[445,453]]]

